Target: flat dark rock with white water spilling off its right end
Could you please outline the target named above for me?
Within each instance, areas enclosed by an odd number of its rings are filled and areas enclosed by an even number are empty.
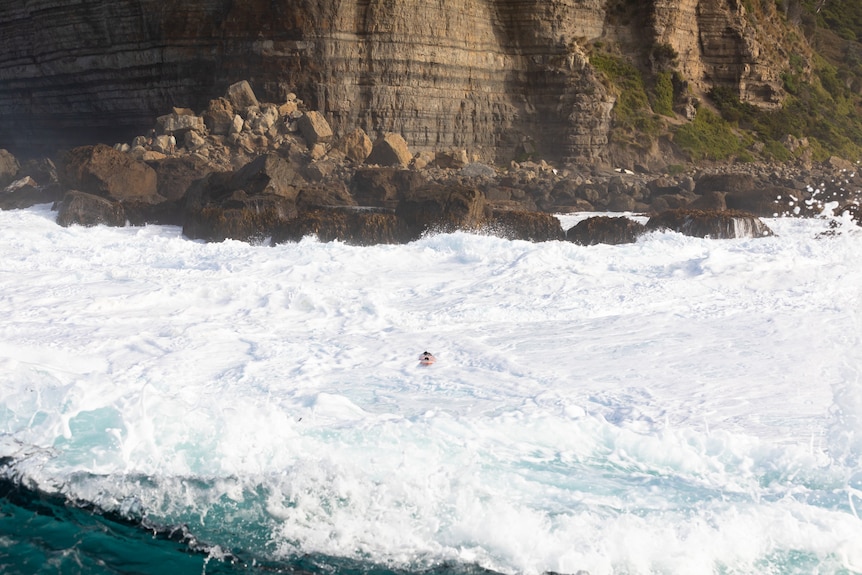
[[[648,230],[672,230],[687,236],[713,239],[759,238],[772,230],[760,218],[733,210],[668,210],[652,216]]]

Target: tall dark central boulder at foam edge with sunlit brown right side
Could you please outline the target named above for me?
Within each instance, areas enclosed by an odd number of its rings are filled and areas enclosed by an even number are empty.
[[[429,231],[476,230],[486,223],[485,196],[460,184],[428,184],[405,194],[395,213],[409,239]]]

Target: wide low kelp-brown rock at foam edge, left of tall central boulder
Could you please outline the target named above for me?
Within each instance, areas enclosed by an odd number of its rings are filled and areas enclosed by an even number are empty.
[[[403,223],[390,210],[321,207],[283,222],[272,242],[298,242],[306,236],[316,236],[322,242],[368,246],[399,243],[406,232]]]

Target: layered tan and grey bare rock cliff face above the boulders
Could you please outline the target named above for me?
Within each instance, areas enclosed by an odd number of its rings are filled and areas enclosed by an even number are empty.
[[[247,79],[267,101],[296,92],[337,134],[592,162],[614,98],[584,50],[618,38],[641,61],[672,46],[695,87],[780,99],[736,0],[28,0],[0,6],[0,147],[145,133]]]

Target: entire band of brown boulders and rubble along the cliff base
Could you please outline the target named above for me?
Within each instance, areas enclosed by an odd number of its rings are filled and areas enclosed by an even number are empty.
[[[20,162],[0,150],[0,208],[54,202],[61,225],[171,224],[207,241],[279,243],[313,234],[360,245],[456,229],[565,239],[553,214],[569,212],[649,214],[644,230],[710,237],[766,235],[761,217],[826,209],[862,222],[862,174],[838,158],[663,174],[476,160],[457,149],[413,154],[394,133],[373,142],[360,129],[336,137],[295,95],[260,102],[243,81],[200,113],[174,108],[130,143]],[[569,239],[622,243],[644,231],[628,218],[590,220]]]

